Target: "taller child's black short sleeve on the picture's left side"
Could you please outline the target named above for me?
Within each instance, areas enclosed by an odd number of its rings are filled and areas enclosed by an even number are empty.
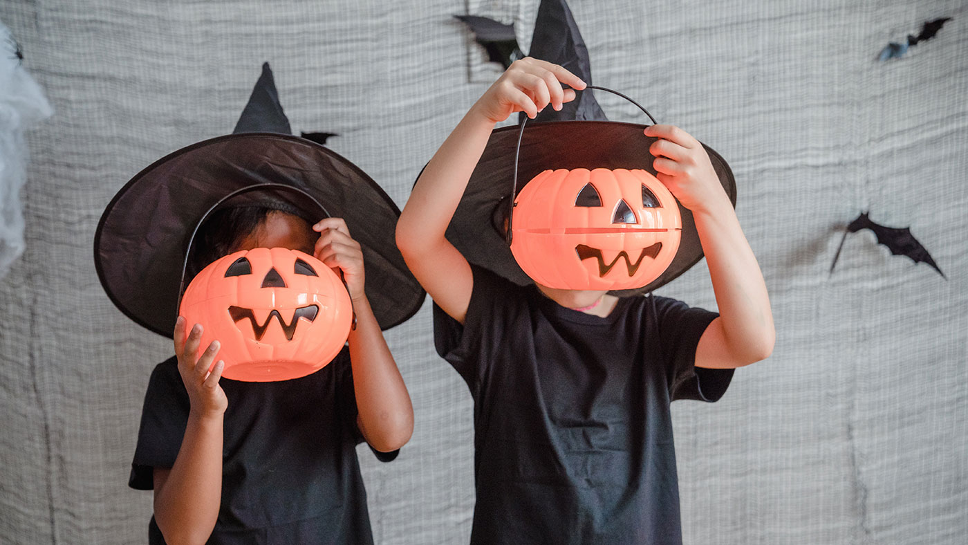
[[[447,360],[473,389],[481,372],[480,366],[487,359],[482,347],[485,324],[491,330],[502,326],[504,321],[497,316],[496,302],[509,298],[508,288],[516,286],[473,263],[470,271],[473,288],[464,324],[434,303],[434,346],[440,357]]]

